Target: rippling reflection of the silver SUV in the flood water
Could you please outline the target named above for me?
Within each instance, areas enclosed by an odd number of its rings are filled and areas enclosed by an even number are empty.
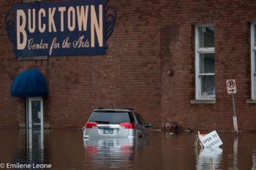
[[[131,168],[135,154],[140,148],[150,145],[147,137],[140,139],[103,138],[84,139],[86,158],[92,161],[97,169]]]

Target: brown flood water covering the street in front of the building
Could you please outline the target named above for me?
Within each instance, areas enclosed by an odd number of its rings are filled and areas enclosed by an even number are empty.
[[[45,131],[43,143],[34,139],[29,149],[26,131],[0,130],[0,169],[252,169],[256,170],[256,134],[218,132],[223,145],[195,149],[196,133],[165,134],[129,139],[84,140],[81,130]],[[4,163],[4,167],[3,167]],[[16,165],[14,167],[13,165]],[[51,166],[49,168],[49,165]],[[7,166],[9,168],[7,168]],[[42,167],[44,166],[44,167]]]

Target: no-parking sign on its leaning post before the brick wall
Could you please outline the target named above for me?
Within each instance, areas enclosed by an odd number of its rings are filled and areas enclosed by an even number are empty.
[[[227,93],[232,94],[232,104],[233,104],[233,110],[234,110],[234,116],[233,116],[233,125],[234,130],[236,131],[236,134],[238,134],[238,123],[237,123],[237,117],[236,117],[236,104],[235,104],[235,96],[236,94],[236,80],[227,80]]]

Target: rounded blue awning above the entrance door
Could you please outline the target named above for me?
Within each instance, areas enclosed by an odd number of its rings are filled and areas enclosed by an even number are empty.
[[[47,96],[45,77],[37,69],[29,69],[18,74],[12,82],[12,97]]]

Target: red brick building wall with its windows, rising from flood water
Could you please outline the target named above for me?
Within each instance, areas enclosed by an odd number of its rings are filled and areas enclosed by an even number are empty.
[[[26,98],[10,88],[38,69],[47,82],[45,123],[80,128],[92,109],[132,107],[154,128],[233,130],[226,80],[236,79],[240,130],[256,130],[256,1],[108,1],[117,18],[105,55],[15,58],[0,1],[0,126],[26,122]]]

